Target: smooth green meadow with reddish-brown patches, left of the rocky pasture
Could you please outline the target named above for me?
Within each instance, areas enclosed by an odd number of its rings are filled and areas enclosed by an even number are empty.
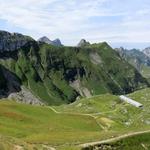
[[[62,115],[46,107],[0,102],[0,134],[4,136],[58,145],[98,138],[101,130],[89,116]]]

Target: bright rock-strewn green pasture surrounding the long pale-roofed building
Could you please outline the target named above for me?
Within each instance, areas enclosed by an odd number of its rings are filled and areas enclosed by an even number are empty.
[[[107,136],[104,136],[104,139],[110,137],[110,135],[117,136],[128,132],[150,129],[150,89],[139,90],[128,96],[142,103],[144,107],[139,109],[130,104],[121,103],[117,96],[108,94],[95,96],[86,100],[82,99],[70,105],[62,105],[54,108],[63,112],[88,113],[95,116],[107,132]],[[145,135],[143,135],[143,139],[144,137]],[[150,141],[148,136],[145,138],[145,142]],[[101,139],[103,138],[101,137]],[[136,147],[138,140],[138,137],[137,139],[135,137],[135,141],[133,141],[134,147]],[[126,147],[127,142],[125,141]],[[132,145],[132,141],[129,142],[129,145]]]

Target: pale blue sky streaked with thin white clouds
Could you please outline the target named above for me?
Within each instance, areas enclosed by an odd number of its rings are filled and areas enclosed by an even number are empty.
[[[76,45],[150,46],[150,0],[0,0],[0,29]]]

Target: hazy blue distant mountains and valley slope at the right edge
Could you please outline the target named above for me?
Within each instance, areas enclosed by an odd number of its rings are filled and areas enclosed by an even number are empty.
[[[115,49],[120,56],[133,65],[144,77],[150,78],[150,57],[137,49]],[[147,49],[148,50],[148,49]],[[148,52],[148,51],[147,51]]]

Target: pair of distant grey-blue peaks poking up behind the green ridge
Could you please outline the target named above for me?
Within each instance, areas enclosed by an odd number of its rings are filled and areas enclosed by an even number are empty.
[[[44,42],[50,45],[54,45],[54,46],[63,46],[61,44],[61,41],[59,39],[55,39],[54,41],[51,41],[48,37],[43,36],[40,39],[38,39],[38,42]]]

